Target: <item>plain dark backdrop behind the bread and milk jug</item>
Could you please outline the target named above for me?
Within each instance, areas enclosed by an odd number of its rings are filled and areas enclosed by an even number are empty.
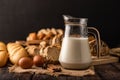
[[[0,0],[0,41],[25,40],[41,28],[64,28],[63,14],[88,18],[109,47],[120,44],[118,0]]]

